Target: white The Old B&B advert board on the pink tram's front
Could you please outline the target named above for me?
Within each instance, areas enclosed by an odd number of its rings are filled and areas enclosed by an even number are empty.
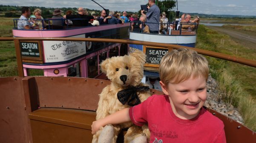
[[[85,38],[85,34],[71,36]],[[84,41],[43,41],[45,63],[62,62],[86,54]]]

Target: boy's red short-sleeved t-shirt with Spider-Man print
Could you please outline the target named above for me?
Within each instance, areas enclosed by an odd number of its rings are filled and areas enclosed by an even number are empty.
[[[219,118],[204,108],[190,120],[178,118],[167,95],[150,96],[131,107],[129,116],[135,125],[148,124],[150,143],[226,143]]]

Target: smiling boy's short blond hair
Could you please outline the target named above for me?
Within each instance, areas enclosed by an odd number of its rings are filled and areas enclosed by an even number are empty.
[[[177,84],[189,79],[203,76],[207,81],[209,74],[208,61],[194,50],[180,48],[164,55],[159,67],[161,81]]]

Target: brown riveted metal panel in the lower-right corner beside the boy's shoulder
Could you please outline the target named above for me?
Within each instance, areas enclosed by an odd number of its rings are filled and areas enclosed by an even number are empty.
[[[207,110],[223,121],[227,143],[256,143],[255,132],[215,110],[210,108]]]

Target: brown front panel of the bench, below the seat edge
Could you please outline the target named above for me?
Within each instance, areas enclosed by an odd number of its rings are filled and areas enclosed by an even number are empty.
[[[31,120],[34,143],[91,143],[91,130]]]

